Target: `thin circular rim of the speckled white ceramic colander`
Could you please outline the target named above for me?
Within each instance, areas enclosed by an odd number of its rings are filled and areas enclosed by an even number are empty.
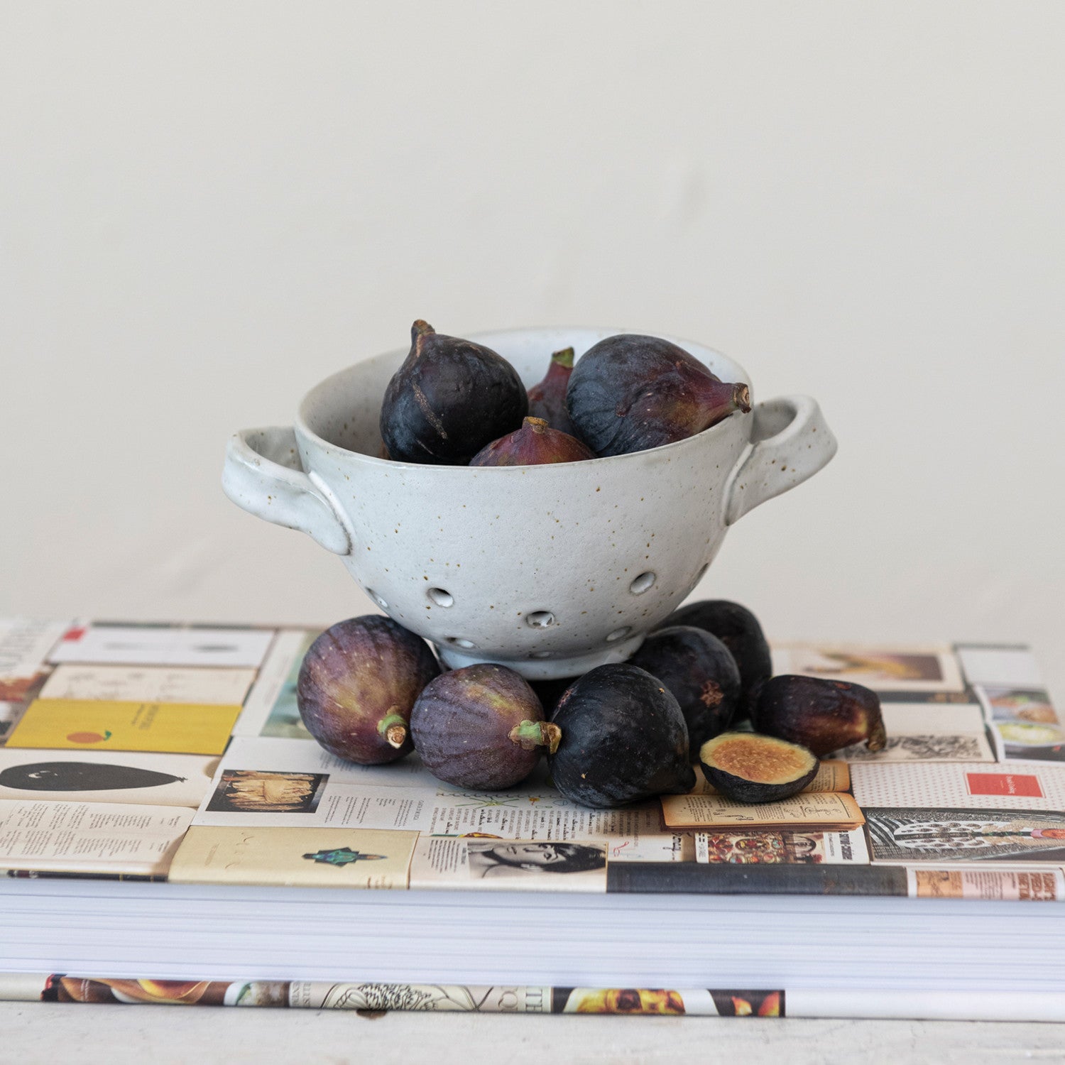
[[[678,347],[684,348],[688,354],[692,354],[689,350],[689,345],[701,349],[702,351],[710,351],[715,356],[723,359],[725,362],[735,366],[736,370],[740,372],[737,376],[737,381],[747,384],[748,389],[751,391],[751,412],[754,414],[754,389],[751,386],[750,375],[747,370],[740,365],[731,356],[719,351],[717,348],[709,347],[708,345],[702,343],[701,341],[688,340],[685,338],[674,337],[671,333],[663,332],[653,332],[653,331],[640,331],[637,332],[633,329],[625,328],[610,328],[604,326],[512,326],[506,329],[481,329],[477,332],[468,333],[463,337],[463,340],[474,341],[475,343],[485,343],[489,338],[498,338],[503,335],[526,335],[528,333],[538,332],[583,332],[583,333],[602,333],[600,340],[606,340],[609,337],[616,337],[621,333],[625,334],[636,334],[640,337],[654,337],[656,340],[666,340],[672,344],[676,344]],[[450,334],[448,334],[450,335]],[[594,341],[593,343],[597,343]],[[344,366],[342,370],[338,370],[335,373],[330,374],[328,377],[323,378],[315,386],[313,386],[300,399],[299,406],[296,409],[296,416],[294,419],[294,428],[296,430],[297,438],[302,436],[307,438],[310,443],[315,444],[323,450],[339,452],[342,455],[350,455],[358,458],[361,461],[368,462],[372,465],[388,466],[390,469],[395,469],[400,466],[410,470],[470,470],[473,471],[474,475],[488,474],[489,476],[501,476],[507,472],[512,474],[513,471],[529,471],[529,470],[543,470],[543,471],[557,471],[559,466],[577,466],[578,469],[588,469],[590,463],[603,463],[603,462],[620,462],[625,459],[634,459],[641,455],[660,455],[662,453],[669,452],[671,449],[677,449],[686,446],[693,446],[692,441],[704,441],[710,439],[711,433],[717,433],[722,436],[725,431],[726,426],[732,422],[733,417],[737,413],[734,411],[732,414],[726,415],[716,425],[711,425],[707,429],[703,429],[702,432],[697,432],[691,437],[685,437],[683,440],[674,440],[669,444],[659,444],[657,447],[646,447],[639,452],[626,452],[624,455],[602,455],[596,456],[593,459],[584,459],[579,462],[541,462],[532,463],[529,465],[498,465],[498,466],[471,466],[471,465],[452,465],[447,463],[439,462],[404,462],[400,459],[382,459],[376,455],[366,455],[364,452],[355,452],[348,447],[342,447],[340,444],[333,443],[330,440],[326,440],[324,437],[315,432],[308,423],[308,406],[314,402],[318,392],[325,390],[330,381],[334,381],[339,377],[346,376],[350,374],[356,366],[360,366],[366,362],[376,362],[377,360],[388,360],[394,358],[406,357],[409,348],[395,347],[390,348],[386,351],[379,351],[376,355],[367,356],[365,359],[360,359],[358,362],[354,362],[350,365]],[[587,350],[587,348],[585,349]],[[584,353],[581,353],[584,355]],[[701,357],[698,355],[693,356],[702,361]],[[504,356],[506,358],[506,356]],[[575,362],[578,361],[580,356],[577,357]],[[508,360],[509,361],[509,360]],[[537,476],[537,474],[534,474]]]

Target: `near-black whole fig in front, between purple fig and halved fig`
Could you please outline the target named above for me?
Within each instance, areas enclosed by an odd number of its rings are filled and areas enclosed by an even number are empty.
[[[646,670],[624,662],[585,673],[563,692],[552,722],[562,737],[547,766],[572,802],[610,808],[695,786],[684,715]]]

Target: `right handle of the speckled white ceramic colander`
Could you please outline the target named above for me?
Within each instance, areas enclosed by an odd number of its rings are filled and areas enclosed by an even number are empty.
[[[727,487],[725,525],[813,477],[836,454],[836,438],[809,396],[756,404],[753,416],[751,449]]]

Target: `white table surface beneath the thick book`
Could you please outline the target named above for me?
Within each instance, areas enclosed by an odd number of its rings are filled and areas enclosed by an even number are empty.
[[[0,1003],[3,1065],[867,1065],[1065,1061],[1065,1025]]]

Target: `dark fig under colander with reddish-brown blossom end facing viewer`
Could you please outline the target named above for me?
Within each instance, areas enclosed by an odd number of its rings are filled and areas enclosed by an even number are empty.
[[[659,628],[628,659],[658,677],[673,693],[688,726],[688,757],[723,733],[739,705],[739,670],[728,649],[716,636],[691,625]]]

